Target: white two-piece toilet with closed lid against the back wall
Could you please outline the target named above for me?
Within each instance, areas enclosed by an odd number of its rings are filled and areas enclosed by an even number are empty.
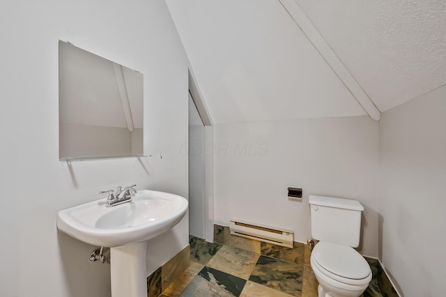
[[[353,248],[360,244],[361,213],[356,200],[309,195],[314,246],[310,263],[319,297],[358,297],[371,281],[367,261]]]

